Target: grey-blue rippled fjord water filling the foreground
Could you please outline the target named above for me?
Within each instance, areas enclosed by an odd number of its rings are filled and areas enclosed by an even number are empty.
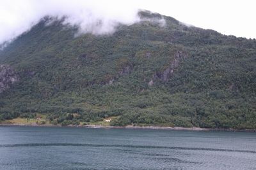
[[[256,134],[0,127],[0,169],[256,169]]]

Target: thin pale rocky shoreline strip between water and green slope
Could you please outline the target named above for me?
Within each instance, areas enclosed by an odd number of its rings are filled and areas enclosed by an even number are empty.
[[[28,127],[80,127],[80,128],[92,128],[92,129],[153,129],[153,130],[170,130],[170,131],[226,131],[226,132],[256,132],[256,129],[223,129],[223,128],[201,128],[201,127],[161,127],[161,126],[104,126],[104,125],[38,125],[38,124],[1,124],[3,126],[28,126]]]

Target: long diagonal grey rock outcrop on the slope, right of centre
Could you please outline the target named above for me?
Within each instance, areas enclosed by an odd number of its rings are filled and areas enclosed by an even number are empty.
[[[168,79],[172,76],[174,69],[179,66],[180,61],[186,59],[188,55],[182,51],[176,52],[174,55],[174,60],[170,63],[170,65],[164,69],[163,72],[155,73],[153,75],[152,80],[148,82],[148,86],[152,86],[154,84],[154,80],[161,80],[163,82],[168,81]]]

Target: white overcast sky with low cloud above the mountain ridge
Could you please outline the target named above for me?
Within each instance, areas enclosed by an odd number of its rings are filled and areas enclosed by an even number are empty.
[[[81,32],[115,31],[116,22],[138,22],[136,12],[145,9],[180,22],[222,34],[256,38],[256,1],[253,0],[0,0],[0,43],[28,31],[45,15],[68,16]],[[99,26],[99,21],[102,23]]]

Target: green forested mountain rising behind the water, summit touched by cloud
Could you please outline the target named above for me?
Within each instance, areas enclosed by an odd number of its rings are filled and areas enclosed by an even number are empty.
[[[139,15],[101,36],[42,18],[0,52],[0,119],[256,129],[255,39]]]

